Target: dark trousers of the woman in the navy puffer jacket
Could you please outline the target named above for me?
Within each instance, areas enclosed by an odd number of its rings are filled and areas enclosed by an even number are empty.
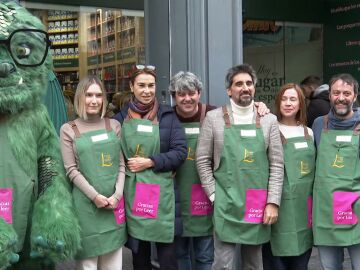
[[[134,270],[152,270],[150,242],[139,240],[139,249],[133,255]],[[175,244],[155,243],[160,270],[178,270]]]

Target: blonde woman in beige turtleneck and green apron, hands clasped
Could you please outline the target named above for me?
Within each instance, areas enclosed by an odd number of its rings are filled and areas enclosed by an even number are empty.
[[[81,226],[77,270],[121,269],[127,234],[122,199],[125,164],[121,126],[105,118],[106,92],[99,78],[87,76],[77,86],[79,116],[60,130],[66,174],[73,183],[74,206]]]

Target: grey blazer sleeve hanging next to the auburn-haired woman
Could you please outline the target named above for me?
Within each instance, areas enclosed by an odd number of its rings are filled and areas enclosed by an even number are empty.
[[[267,203],[280,205],[284,179],[284,152],[278,123],[273,117],[269,130],[269,184]]]

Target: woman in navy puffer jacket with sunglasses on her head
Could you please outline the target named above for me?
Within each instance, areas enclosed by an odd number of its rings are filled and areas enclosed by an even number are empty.
[[[178,269],[174,236],[181,234],[181,220],[173,172],[187,156],[185,134],[172,108],[156,99],[154,66],[136,65],[130,89],[132,100],[115,115],[122,124],[127,166],[127,245],[135,270],[152,269],[150,242],[155,242],[160,269]]]

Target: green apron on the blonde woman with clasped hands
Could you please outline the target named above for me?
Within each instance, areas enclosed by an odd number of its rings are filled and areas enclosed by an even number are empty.
[[[105,118],[106,129],[83,134],[80,134],[75,122],[69,123],[75,132],[79,171],[99,194],[110,197],[115,192],[121,148],[109,119]],[[72,194],[81,226],[82,249],[77,258],[96,257],[122,247],[127,240],[126,222],[119,218],[118,209],[97,208],[76,186]]]

